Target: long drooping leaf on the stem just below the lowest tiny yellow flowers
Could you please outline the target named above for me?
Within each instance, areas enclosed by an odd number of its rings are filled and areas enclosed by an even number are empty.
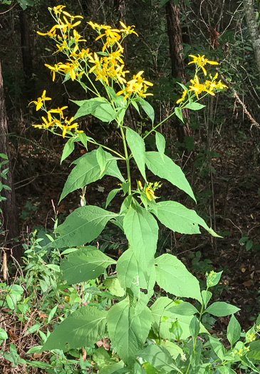
[[[131,205],[123,221],[125,235],[140,264],[153,264],[158,240],[155,218],[140,205]]]

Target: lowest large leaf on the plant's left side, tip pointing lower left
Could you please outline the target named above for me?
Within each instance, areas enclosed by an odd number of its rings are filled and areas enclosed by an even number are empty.
[[[105,335],[107,313],[95,306],[82,306],[55,328],[41,351],[92,346]]]

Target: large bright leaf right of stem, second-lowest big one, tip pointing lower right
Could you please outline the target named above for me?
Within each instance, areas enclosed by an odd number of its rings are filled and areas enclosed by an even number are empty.
[[[196,298],[202,303],[199,281],[176,256],[162,254],[155,259],[155,265],[156,281],[162,289],[175,296]]]

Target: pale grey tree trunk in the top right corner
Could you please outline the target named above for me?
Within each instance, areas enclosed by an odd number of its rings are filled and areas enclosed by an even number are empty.
[[[251,42],[254,49],[254,56],[256,58],[256,66],[259,71],[260,80],[260,32],[256,24],[256,15],[254,12],[254,0],[243,0],[244,14],[246,16],[246,24],[249,28]]]

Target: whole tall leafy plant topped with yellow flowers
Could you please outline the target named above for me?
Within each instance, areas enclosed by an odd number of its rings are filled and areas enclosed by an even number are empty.
[[[56,227],[56,239],[48,244],[52,248],[66,248],[67,255],[61,261],[61,270],[68,284],[82,284],[105,274],[108,282],[104,285],[107,291],[104,291],[103,297],[107,298],[107,303],[98,304],[95,299],[89,305],[83,302],[83,306],[55,328],[41,350],[66,351],[89,347],[104,336],[109,336],[113,352],[105,360],[104,367],[100,367],[100,374],[189,373],[191,368],[192,373],[209,373],[215,365],[219,370],[226,370],[238,353],[222,360],[218,353],[220,348],[216,348],[214,364],[212,360],[204,363],[197,358],[197,336],[199,333],[207,334],[202,324],[204,313],[227,316],[238,310],[227,303],[208,306],[212,296],[208,289],[218,283],[220,273],[210,274],[207,290],[201,291],[199,281],[176,256],[162,254],[155,258],[158,222],[182,234],[199,234],[199,227],[203,227],[214,237],[218,235],[193,209],[172,200],[160,201],[156,196],[163,180],[167,180],[196,202],[184,173],[165,155],[165,137],[156,131],[167,118],[155,124],[154,110],[145,100],[152,95],[152,83],[145,79],[144,71],[131,75],[125,69],[122,42],[131,34],[137,36],[135,26],[120,22],[118,28],[113,28],[88,22],[98,34],[95,40],[100,42],[100,49],[93,51],[83,48],[86,41],[77,31],[82,16],[72,16],[61,5],[50,11],[55,20],[54,26],[50,31],[38,34],[52,38],[56,44],[54,53],[61,53],[65,60],[54,66],[46,64],[46,67],[51,71],[53,80],[58,75],[63,77],[63,82],[71,79],[91,95],[88,100],[74,101],[79,108],[69,119],[64,114],[66,106],[46,107],[46,102],[51,100],[46,96],[46,90],[38,100],[32,102],[36,110],[46,113],[41,117],[41,123],[33,126],[50,130],[67,140],[61,161],[73,152],[75,142],[81,142],[87,151],[74,162],[75,167],[68,175],[61,199],[76,189],[85,189],[85,186],[105,175],[114,177],[120,184],[108,193],[105,209],[86,205],[81,197],[80,207]],[[180,84],[183,93],[177,100],[178,106],[170,114],[177,115],[180,120],[182,109],[199,110],[204,106],[198,103],[204,95],[215,95],[227,88],[221,80],[217,81],[217,74],[214,77],[209,74],[205,80],[199,78],[201,72],[207,76],[207,64],[216,65],[217,62],[199,55],[191,57],[193,61],[190,63],[195,65],[194,78],[187,85]],[[151,120],[151,129],[143,137],[124,123],[125,112],[130,105],[138,113],[142,108]],[[79,129],[76,120],[89,114],[118,128],[123,152],[99,144],[83,129]],[[157,151],[145,150],[147,136],[155,136]],[[96,149],[88,152],[88,142]],[[118,168],[118,161],[120,165],[125,163],[125,170]],[[136,163],[140,173],[136,184],[131,175],[132,162]],[[154,181],[147,180],[147,169],[155,175]],[[107,209],[108,205],[118,193],[123,195],[123,202],[118,212],[111,212]],[[128,239],[128,249],[118,261],[90,245],[108,222],[120,227]],[[108,266],[115,269],[112,276],[106,273]],[[155,301],[152,297],[155,282],[176,298],[161,296]],[[183,301],[183,298],[192,298],[198,308],[194,303]],[[233,324],[236,323],[234,320]],[[180,341],[190,336],[193,344],[186,351],[186,357]],[[212,341],[216,347],[222,346],[216,341]],[[199,369],[201,365],[204,365],[204,371]],[[223,370],[221,373],[233,372]]]

